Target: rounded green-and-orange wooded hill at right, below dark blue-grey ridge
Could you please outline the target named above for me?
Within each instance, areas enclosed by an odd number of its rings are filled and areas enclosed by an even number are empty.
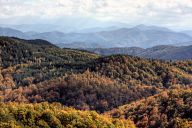
[[[112,55],[94,60],[90,70],[121,83],[170,88],[192,83],[192,62],[166,62],[127,55]]]

